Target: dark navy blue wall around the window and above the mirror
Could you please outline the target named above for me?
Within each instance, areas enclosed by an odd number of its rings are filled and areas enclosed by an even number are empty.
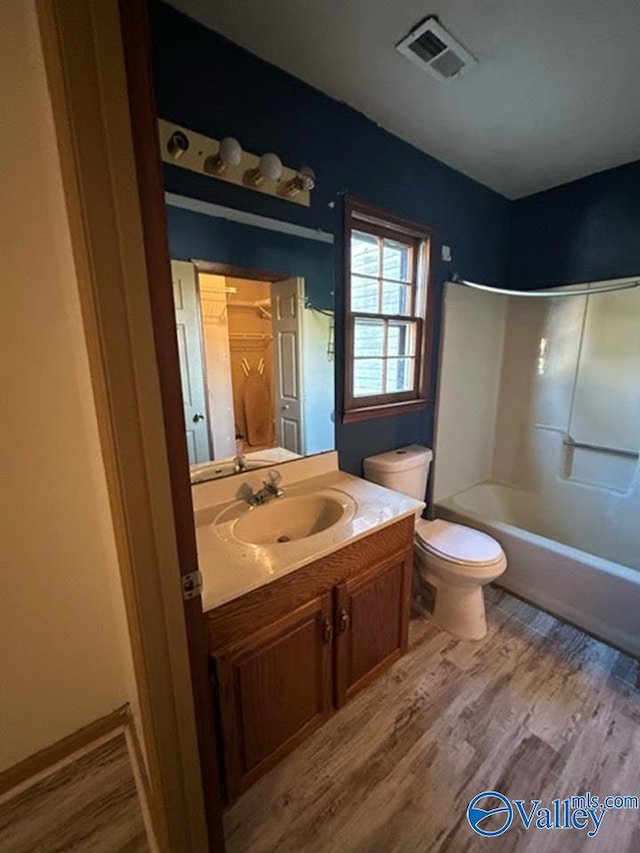
[[[453,263],[436,262],[436,311],[442,283],[454,271],[476,281],[505,282],[509,202],[387,133],[365,116],[263,62],[164,4],[152,2],[151,35],[158,113],[207,136],[236,136],[253,153],[275,151],[290,166],[308,164],[318,176],[310,208],[165,167],[167,190],[193,198],[332,231],[335,244],[336,341],[343,332],[345,193],[420,220],[452,247]],[[189,214],[195,216],[195,214]],[[184,226],[184,230],[183,229]],[[197,232],[197,252],[215,257],[218,236],[187,215],[171,214],[172,246]],[[207,233],[209,231],[210,233]],[[195,236],[193,237],[195,240]],[[213,253],[213,254],[212,254]],[[189,251],[185,249],[185,255]],[[436,324],[433,377],[439,322]],[[343,353],[336,352],[342,396]],[[432,379],[432,396],[435,381]],[[337,425],[340,464],[361,472],[362,459],[394,446],[433,440],[433,405],[425,411]]]

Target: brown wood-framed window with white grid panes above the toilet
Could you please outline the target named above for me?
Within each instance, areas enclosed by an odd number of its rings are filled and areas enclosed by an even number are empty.
[[[424,408],[431,231],[346,200],[344,422]]]

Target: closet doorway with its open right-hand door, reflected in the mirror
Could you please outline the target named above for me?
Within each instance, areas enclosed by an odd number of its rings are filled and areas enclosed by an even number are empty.
[[[304,452],[301,279],[198,275],[212,458]]]

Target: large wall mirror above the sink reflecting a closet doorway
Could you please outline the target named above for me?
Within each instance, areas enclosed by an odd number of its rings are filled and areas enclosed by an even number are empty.
[[[333,236],[167,196],[192,483],[333,450]]]

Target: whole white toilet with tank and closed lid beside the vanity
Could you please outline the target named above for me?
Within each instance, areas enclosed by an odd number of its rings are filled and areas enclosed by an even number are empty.
[[[433,453],[411,444],[364,460],[367,480],[424,500]],[[459,637],[481,640],[487,633],[482,587],[507,568],[504,551],[491,536],[436,519],[416,520],[415,566],[436,590],[433,621]]]

